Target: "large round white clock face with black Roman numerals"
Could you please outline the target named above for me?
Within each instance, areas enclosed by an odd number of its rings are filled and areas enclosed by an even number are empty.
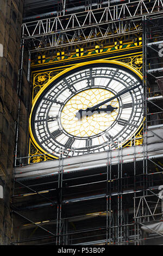
[[[143,90],[141,75],[126,66],[91,62],[54,77],[36,96],[30,115],[37,147],[58,157],[60,149],[76,156],[107,150],[108,142],[112,149],[127,142],[143,121]],[[89,115],[77,117],[91,107]]]

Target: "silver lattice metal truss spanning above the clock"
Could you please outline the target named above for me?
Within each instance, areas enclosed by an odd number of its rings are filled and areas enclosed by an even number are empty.
[[[48,17],[22,25],[24,42],[31,52],[102,41],[142,32],[142,17],[163,13],[162,0],[126,1],[83,13]]]

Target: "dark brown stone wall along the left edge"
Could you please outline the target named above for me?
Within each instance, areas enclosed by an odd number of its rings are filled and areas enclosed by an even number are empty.
[[[0,245],[11,241],[12,170],[20,101],[17,155],[28,155],[30,86],[22,71],[21,96],[18,97],[18,69],[24,0],[0,1]]]

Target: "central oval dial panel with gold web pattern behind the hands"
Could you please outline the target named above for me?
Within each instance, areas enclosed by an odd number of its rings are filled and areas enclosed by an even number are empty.
[[[117,118],[118,100],[111,101],[111,106],[117,107],[115,111],[93,113],[89,117],[83,116],[80,120],[76,118],[79,109],[86,109],[92,104],[96,105],[106,99],[114,96],[109,90],[102,88],[91,88],[74,95],[64,106],[61,112],[61,125],[63,129],[72,136],[77,138],[91,138],[105,131]],[[107,107],[107,104],[103,105]]]

